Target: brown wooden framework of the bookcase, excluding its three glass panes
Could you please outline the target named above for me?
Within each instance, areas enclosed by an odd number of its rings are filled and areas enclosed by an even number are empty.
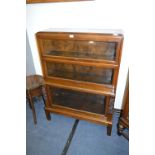
[[[73,34],[74,38],[69,38],[69,35]],[[50,113],[58,113],[76,119],[88,120],[97,124],[102,124],[107,126],[107,134],[111,134],[112,130],[112,115],[111,111],[111,100],[115,98],[117,79],[122,55],[122,44],[123,35],[113,35],[113,34],[103,34],[103,33],[70,33],[70,32],[38,32],[36,34],[37,45],[40,55],[41,67],[43,71],[43,77],[45,80],[45,88],[47,92],[47,103],[45,107],[47,119],[50,119]],[[81,41],[105,41],[105,42],[116,42],[116,58],[114,61],[110,60],[75,60],[74,58],[66,57],[54,57],[43,54],[43,39],[55,39],[55,40],[81,40]],[[113,68],[114,75],[111,85],[100,85],[97,83],[87,83],[74,81],[63,78],[49,77],[47,74],[46,62],[62,62],[66,64],[80,64],[80,65],[94,65],[97,67]],[[57,87],[62,89],[69,89],[73,91],[79,91],[84,93],[99,94],[105,96],[105,114],[96,114],[92,112],[81,111],[77,109],[71,109],[68,107],[62,107],[59,105],[52,104],[52,96],[50,93],[51,87]],[[112,105],[113,108],[113,105]]]

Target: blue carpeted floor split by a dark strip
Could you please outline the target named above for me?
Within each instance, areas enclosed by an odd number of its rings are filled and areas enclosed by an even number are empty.
[[[47,121],[42,100],[35,101],[37,125],[26,105],[26,154],[62,155],[75,119],[52,114]],[[129,143],[116,132],[118,114],[114,114],[112,135],[107,136],[106,127],[87,121],[79,121],[67,155],[128,155]]]

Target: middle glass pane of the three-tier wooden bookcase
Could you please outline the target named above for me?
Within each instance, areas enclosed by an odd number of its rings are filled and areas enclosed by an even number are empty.
[[[100,84],[112,83],[112,69],[53,62],[47,62],[46,66],[48,76]]]

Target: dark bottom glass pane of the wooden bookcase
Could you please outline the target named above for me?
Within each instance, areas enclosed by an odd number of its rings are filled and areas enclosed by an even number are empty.
[[[52,105],[64,106],[96,114],[105,113],[105,97],[72,90],[51,88]]]

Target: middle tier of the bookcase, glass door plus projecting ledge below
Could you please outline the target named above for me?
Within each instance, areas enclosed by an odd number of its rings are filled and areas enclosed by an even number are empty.
[[[80,92],[115,96],[113,80],[117,73],[115,64],[67,62],[62,59],[42,59],[46,84]],[[108,66],[107,66],[108,65]],[[111,65],[111,66],[109,66]]]

